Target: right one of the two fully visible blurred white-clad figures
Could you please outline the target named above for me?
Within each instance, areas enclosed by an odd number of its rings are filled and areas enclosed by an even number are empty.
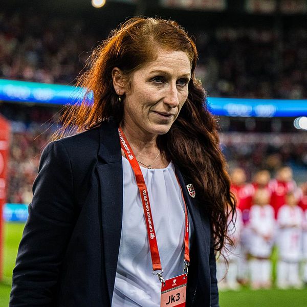
[[[279,260],[277,265],[277,286],[288,288],[301,286],[299,261],[301,259],[301,240],[303,210],[297,205],[294,192],[286,195],[286,204],[277,214]]]

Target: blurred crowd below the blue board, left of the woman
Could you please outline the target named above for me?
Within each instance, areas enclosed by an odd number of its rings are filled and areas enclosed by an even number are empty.
[[[40,153],[56,129],[57,107],[0,104],[0,113],[10,121],[7,202],[29,204]]]

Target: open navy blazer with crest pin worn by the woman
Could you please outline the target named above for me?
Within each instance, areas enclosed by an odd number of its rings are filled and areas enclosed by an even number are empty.
[[[186,305],[218,307],[208,214],[197,195],[189,196],[178,166],[176,172],[194,225]],[[48,144],[33,184],[9,306],[111,306],[122,202],[122,156],[112,120]]]

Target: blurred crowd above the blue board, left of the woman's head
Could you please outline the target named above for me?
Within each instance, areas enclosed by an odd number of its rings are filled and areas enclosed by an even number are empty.
[[[82,21],[0,12],[0,78],[74,83],[97,41]]]

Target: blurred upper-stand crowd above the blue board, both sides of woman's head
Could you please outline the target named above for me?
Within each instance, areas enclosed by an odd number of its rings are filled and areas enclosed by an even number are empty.
[[[0,78],[74,83],[90,51],[109,32],[82,19],[0,13]],[[210,96],[307,97],[307,29],[195,29],[198,77]]]

